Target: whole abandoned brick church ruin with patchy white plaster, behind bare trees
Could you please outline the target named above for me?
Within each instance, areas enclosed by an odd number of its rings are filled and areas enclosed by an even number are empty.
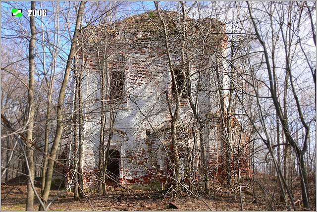
[[[163,12],[169,32],[169,51],[177,85],[188,83],[182,78],[181,17],[176,12]],[[182,93],[177,122],[177,141],[182,179],[189,175],[201,180],[201,147],[194,124],[189,97],[197,102],[201,129],[205,142],[211,176],[223,173],[226,108],[219,107],[218,82],[215,69],[223,82],[223,102],[226,106],[226,53],[225,25],[216,19],[193,20],[188,17],[186,38],[186,70],[191,76],[190,94]],[[207,36],[206,36],[207,35]],[[110,26],[87,27],[81,33],[76,55],[82,73],[82,102],[84,124],[82,167],[84,185],[98,181],[101,130],[101,104],[104,101],[105,138],[109,150],[107,173],[116,183],[135,188],[162,189],[168,186],[171,152],[170,112],[175,109],[175,88],[171,82],[165,37],[156,11],[130,16]],[[106,62],[105,62],[106,61]],[[100,69],[106,71],[106,99],[101,98]],[[187,85],[187,84],[186,84]],[[72,85],[73,86],[73,85]],[[168,100],[171,100],[170,102]],[[248,138],[240,130],[237,119],[231,126],[232,148],[240,139],[243,146]],[[66,141],[64,141],[65,143]],[[248,172],[247,148],[240,154],[240,166]],[[72,149],[65,150],[69,166]],[[233,151],[234,152],[234,151]],[[235,154],[235,153],[234,153]],[[234,155],[233,154],[233,155]],[[235,162],[231,163],[234,169]],[[65,168],[64,168],[65,171]],[[71,180],[68,174],[66,185]]]

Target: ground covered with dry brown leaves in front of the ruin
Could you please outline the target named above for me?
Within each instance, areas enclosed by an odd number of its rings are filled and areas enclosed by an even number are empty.
[[[286,210],[285,205],[278,199],[275,180],[260,182],[257,179],[256,197],[252,190],[243,189],[242,202],[244,211]],[[244,188],[250,188],[246,184]],[[1,211],[24,211],[26,202],[26,183],[1,184]],[[37,191],[40,193],[40,186]],[[166,195],[166,191],[126,190],[120,187],[108,187],[108,194],[86,193],[86,197],[74,201],[73,193],[65,192],[58,187],[51,191],[53,203],[49,211],[241,211],[240,195],[238,189],[229,189],[212,183],[209,195],[201,194],[201,198],[182,192],[177,198]],[[272,191],[270,191],[272,190]],[[300,199],[300,191],[294,192],[295,200]],[[316,209],[315,195],[311,193],[313,211]],[[36,200],[34,211],[38,210],[39,202]],[[208,205],[208,206],[207,206]],[[298,202],[299,210],[300,201]]]

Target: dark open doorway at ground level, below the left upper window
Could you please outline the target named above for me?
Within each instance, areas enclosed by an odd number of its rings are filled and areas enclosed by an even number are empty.
[[[107,174],[111,181],[118,182],[120,174],[120,152],[109,150]]]

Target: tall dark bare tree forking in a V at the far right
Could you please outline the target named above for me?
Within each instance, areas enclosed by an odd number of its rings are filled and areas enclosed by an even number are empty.
[[[285,18],[285,13],[283,10],[279,10],[279,8],[282,8],[283,5],[279,5],[278,3],[274,3],[274,9],[276,9],[277,14],[279,16],[279,19],[277,19],[277,21],[279,21],[280,23],[280,36],[282,37],[282,45],[283,45],[283,49],[284,49],[284,53],[285,53],[285,73],[286,73],[286,79],[285,82],[290,83],[290,90],[292,92],[292,95],[294,97],[294,101],[296,103],[296,108],[297,108],[297,112],[298,112],[298,118],[301,120],[301,124],[305,129],[305,136],[303,139],[303,146],[302,148],[299,146],[299,144],[296,142],[294,136],[291,134],[291,130],[290,130],[290,123],[288,121],[288,119],[286,118],[287,114],[285,114],[285,111],[282,111],[282,106],[281,103],[276,95],[276,86],[274,87],[275,81],[274,81],[274,75],[276,75],[276,71],[275,71],[275,66],[271,65],[270,62],[270,53],[269,50],[267,50],[267,44],[266,41],[263,39],[263,36],[261,34],[261,32],[258,29],[258,24],[255,21],[253,14],[252,14],[252,7],[250,6],[250,4],[247,2],[248,4],[248,10],[249,10],[249,14],[250,14],[250,18],[252,20],[253,26],[254,26],[254,30],[256,32],[256,36],[260,42],[260,44],[263,47],[263,51],[264,51],[264,56],[265,56],[265,64],[266,64],[266,70],[267,70],[267,75],[269,78],[269,91],[271,94],[271,98],[274,104],[274,107],[276,109],[276,115],[279,117],[279,120],[281,122],[281,125],[283,127],[283,131],[284,131],[284,135],[286,137],[286,140],[289,142],[289,144],[291,145],[291,147],[294,149],[294,152],[296,154],[297,157],[297,161],[298,161],[298,165],[299,165],[299,173],[301,176],[301,189],[302,189],[302,197],[303,197],[303,204],[304,207],[306,209],[309,209],[309,196],[308,196],[308,183],[307,183],[307,173],[306,173],[306,167],[305,167],[305,154],[308,150],[308,139],[310,136],[310,126],[309,126],[309,121],[304,117],[303,111],[302,111],[302,106],[301,103],[299,101],[299,97],[298,97],[298,92],[297,89],[295,88],[295,81],[294,81],[294,76],[293,76],[293,71],[292,71],[292,58],[293,58],[293,54],[291,54],[290,49],[291,49],[291,45],[293,44],[293,39],[294,39],[294,33],[296,30],[299,29],[299,23],[300,23],[300,19],[296,20],[296,19],[291,19],[292,15],[296,15],[298,13],[300,13],[300,6],[296,6],[293,5],[293,3],[288,4],[288,15],[286,16],[288,24],[286,25],[286,27],[284,27],[283,23],[284,21],[286,21]],[[274,15],[269,14],[270,16]],[[284,17],[282,17],[284,16]],[[299,17],[300,18],[300,17]],[[273,22],[271,23],[273,24]],[[301,38],[298,38],[299,40]],[[274,52],[271,52],[274,53]],[[273,64],[274,65],[274,64]],[[288,89],[287,87],[285,87],[285,89]]]

